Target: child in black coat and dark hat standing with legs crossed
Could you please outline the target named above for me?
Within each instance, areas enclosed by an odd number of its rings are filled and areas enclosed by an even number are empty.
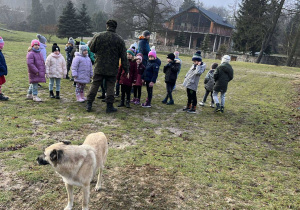
[[[167,96],[166,98],[162,101],[163,104],[167,105],[173,105],[174,100],[172,96],[172,91],[174,89],[176,80],[177,80],[177,75],[180,69],[180,61],[175,60],[175,55],[173,53],[170,53],[167,56],[168,59],[168,64],[164,67],[164,73],[165,75],[165,83],[167,86]],[[168,102],[168,98],[170,98],[170,101]]]

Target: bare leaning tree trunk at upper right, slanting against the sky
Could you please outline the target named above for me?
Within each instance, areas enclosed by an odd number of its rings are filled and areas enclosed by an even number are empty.
[[[262,42],[258,58],[256,59],[256,63],[260,63],[260,61],[262,59],[262,56],[263,56],[263,53],[267,49],[267,47],[268,47],[268,45],[269,45],[269,43],[270,43],[270,41],[272,39],[272,36],[273,36],[274,31],[275,31],[278,19],[280,17],[281,10],[282,10],[284,2],[285,2],[285,0],[280,0],[280,4],[278,6],[278,9],[275,12],[275,15],[273,16],[273,24],[270,27],[270,29],[267,31],[267,33],[266,33],[266,35],[264,37],[264,40]]]

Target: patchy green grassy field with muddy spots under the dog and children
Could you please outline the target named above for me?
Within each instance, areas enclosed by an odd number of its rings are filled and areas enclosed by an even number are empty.
[[[67,80],[61,100],[50,99],[42,84],[44,102],[26,101],[26,52],[35,34],[0,35],[9,72],[3,92],[10,97],[0,102],[0,209],[63,209],[61,178],[35,160],[52,143],[81,144],[99,131],[109,138],[109,156],[103,189],[91,192],[90,209],[299,209],[299,68],[233,62],[225,113],[205,106],[191,115],[182,112],[181,84],[191,65],[183,56],[174,106],[161,103],[166,91],[160,72],[151,109],[133,106],[107,115],[96,99],[94,112],[87,113]],[[54,41],[63,49],[66,40]],[[165,64],[165,55],[159,57]],[[145,93],[143,88],[143,99]],[[74,209],[81,209],[78,188]]]

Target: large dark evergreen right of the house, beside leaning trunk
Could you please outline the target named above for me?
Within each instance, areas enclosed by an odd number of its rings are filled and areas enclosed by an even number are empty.
[[[233,34],[234,49],[242,52],[260,51],[266,31],[268,0],[242,0]]]

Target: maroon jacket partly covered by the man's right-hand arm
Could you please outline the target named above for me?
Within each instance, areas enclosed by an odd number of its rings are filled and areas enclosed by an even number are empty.
[[[137,79],[137,63],[134,60],[128,60],[129,62],[129,79],[122,66],[120,66],[117,80],[120,85],[132,86],[132,83],[136,83]]]

